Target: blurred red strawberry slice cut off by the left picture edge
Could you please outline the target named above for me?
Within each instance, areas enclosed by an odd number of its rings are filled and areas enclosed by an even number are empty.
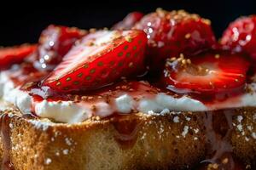
[[[37,45],[20,45],[11,48],[0,48],[0,70],[9,68],[10,65],[22,62],[26,57],[35,52]]]

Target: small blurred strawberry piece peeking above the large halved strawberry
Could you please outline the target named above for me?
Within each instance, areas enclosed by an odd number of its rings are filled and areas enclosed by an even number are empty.
[[[127,14],[124,20],[113,26],[113,30],[130,30],[135,24],[143,18],[142,13],[140,12],[132,12]]]

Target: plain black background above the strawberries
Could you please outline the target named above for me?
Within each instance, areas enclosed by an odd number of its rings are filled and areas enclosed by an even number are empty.
[[[140,1],[125,0],[92,1],[78,3],[64,0],[57,4],[38,1],[36,7],[19,4],[5,7],[0,11],[0,46],[11,46],[23,42],[37,42],[40,32],[49,24],[77,26],[84,29],[112,26],[122,20],[131,11],[137,10],[147,14],[155,8],[185,9],[190,13],[201,14],[212,20],[213,30],[220,37],[230,21],[241,15],[256,14],[256,0],[226,0],[226,1],[195,1],[195,0],[166,0]],[[15,3],[15,2],[13,2]],[[44,4],[44,7],[43,7]],[[3,10],[4,9],[4,10]]]

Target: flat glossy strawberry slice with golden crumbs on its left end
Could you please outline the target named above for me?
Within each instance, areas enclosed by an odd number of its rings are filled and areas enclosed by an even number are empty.
[[[165,80],[170,88],[196,94],[216,94],[243,88],[249,67],[241,54],[212,52],[191,59],[169,59]]]

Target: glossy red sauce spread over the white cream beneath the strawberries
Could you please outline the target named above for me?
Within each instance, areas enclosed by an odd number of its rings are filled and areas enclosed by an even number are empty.
[[[78,91],[69,94],[58,94],[55,93],[52,89],[48,87],[41,87],[40,83],[47,77],[49,72],[47,71],[37,71],[32,64],[23,63],[20,65],[19,69],[15,71],[10,71],[9,77],[11,81],[15,83],[15,87],[21,86],[21,90],[24,90],[32,95],[34,101],[40,102],[43,99],[48,101],[67,101],[67,100],[76,100],[76,102],[82,101],[83,96],[90,96],[90,102],[100,99],[102,96],[108,96],[108,99],[113,99],[119,97],[119,94],[130,94],[131,96],[143,96],[144,98],[153,98],[157,93],[165,93],[172,95],[174,97],[182,97],[187,95],[192,99],[200,100],[204,105],[214,105],[216,102],[223,102],[226,99],[236,99],[239,102],[239,97],[241,94],[244,94],[245,88],[240,87],[237,89],[232,89],[230,92],[222,94],[195,94],[189,91],[180,91],[176,88],[170,88],[166,86],[162,80],[159,80],[156,77],[159,75],[152,75],[149,73],[144,77],[137,79],[120,79],[119,82],[109,84],[106,87],[90,90],[90,91]],[[144,83],[138,82],[141,80]],[[26,83],[24,83],[26,82]],[[86,102],[89,102],[86,100]]]

